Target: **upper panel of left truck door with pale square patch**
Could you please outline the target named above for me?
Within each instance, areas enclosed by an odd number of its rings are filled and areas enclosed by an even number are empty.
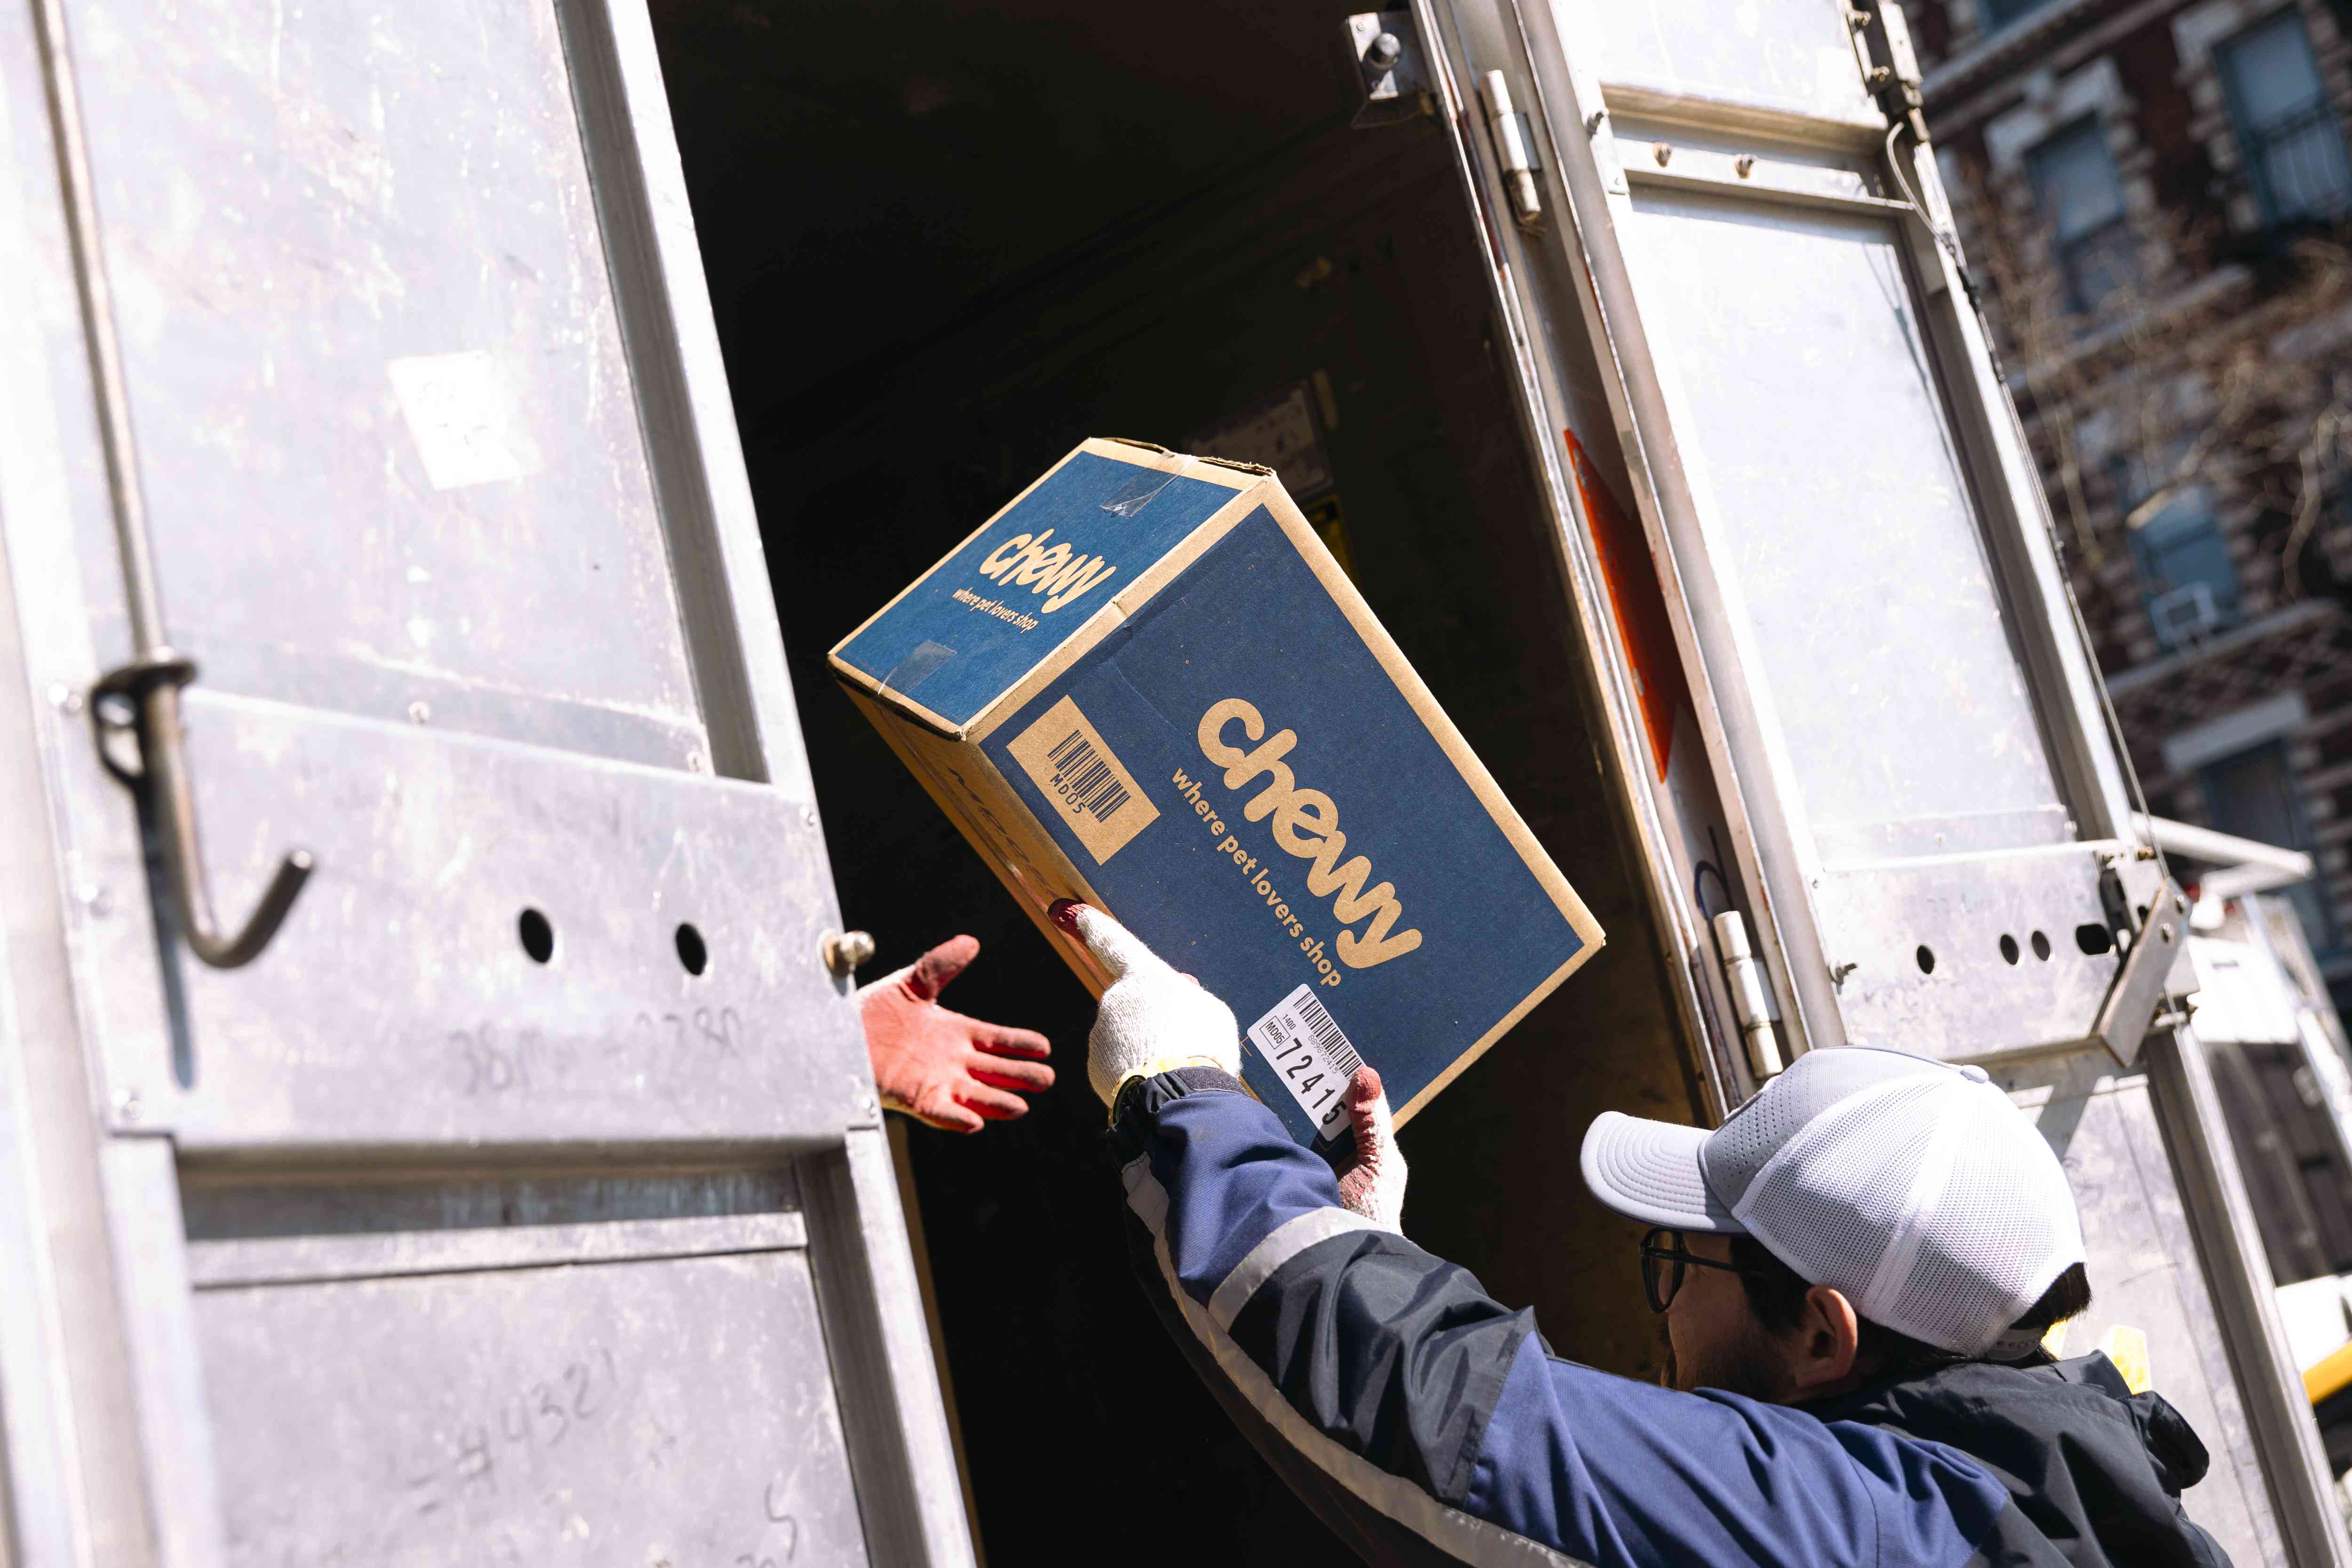
[[[555,9],[66,9],[165,614],[205,684],[689,766]]]

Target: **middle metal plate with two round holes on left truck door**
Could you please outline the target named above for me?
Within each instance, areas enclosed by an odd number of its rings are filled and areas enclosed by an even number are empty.
[[[101,1034],[118,1128],[183,1154],[482,1152],[816,1147],[875,1119],[818,961],[833,898],[804,806],[202,686],[188,712],[219,898],[245,907],[287,844],[318,872],[254,964],[181,959],[179,1009],[132,997]],[[136,898],[141,867],[113,856],[94,882]],[[522,910],[553,931],[543,964]],[[87,924],[101,971],[136,973],[143,926]]]

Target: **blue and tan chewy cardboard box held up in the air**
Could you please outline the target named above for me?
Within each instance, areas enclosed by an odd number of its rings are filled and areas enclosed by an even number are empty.
[[[1096,994],[1056,898],[1232,1004],[1301,1143],[1357,1058],[1409,1119],[1602,943],[1263,468],[1091,440],[833,672]]]

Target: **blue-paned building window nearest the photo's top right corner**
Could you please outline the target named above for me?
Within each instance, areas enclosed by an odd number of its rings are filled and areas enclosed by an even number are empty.
[[[2352,209],[2352,162],[2303,14],[2286,7],[2246,28],[2213,52],[2213,66],[2230,96],[2263,221],[2333,219]]]

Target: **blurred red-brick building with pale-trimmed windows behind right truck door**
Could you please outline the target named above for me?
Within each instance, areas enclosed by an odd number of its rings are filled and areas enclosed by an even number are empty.
[[[2307,849],[2352,999],[2352,0],[1903,0],[2159,816]]]

